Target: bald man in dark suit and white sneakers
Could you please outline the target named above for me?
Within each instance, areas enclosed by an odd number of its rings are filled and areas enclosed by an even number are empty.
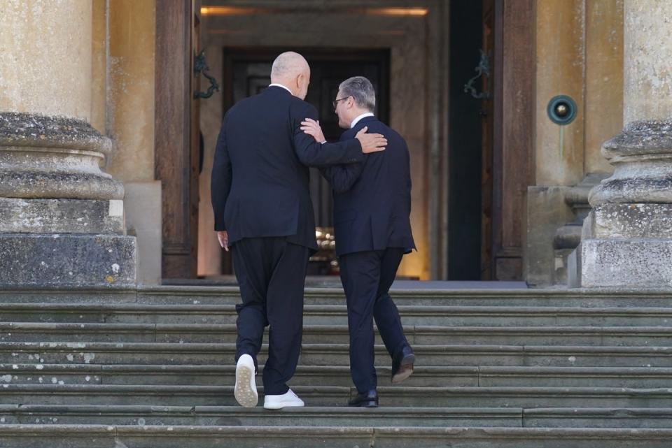
[[[317,110],[304,100],[306,60],[285,52],[272,66],[271,85],[239,101],[224,117],[211,178],[215,230],[231,250],[242,303],[238,312],[235,397],[257,404],[257,355],[269,326],[263,370],[264,407],[303,406],[287,386],[302,338],[303,290],[316,252],[308,166],[352,164],[384,149],[380,134],[353,134],[341,143],[315,142],[300,129]]]

